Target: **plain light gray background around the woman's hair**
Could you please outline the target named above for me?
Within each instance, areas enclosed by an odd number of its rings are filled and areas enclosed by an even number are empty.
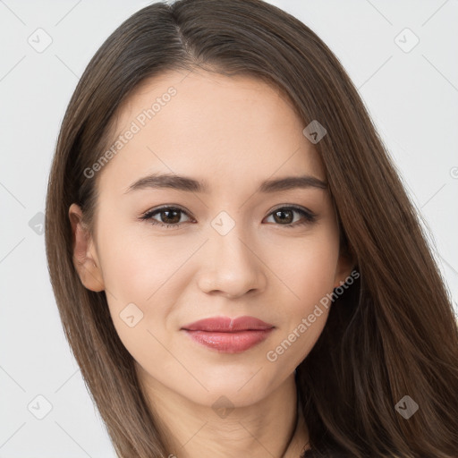
[[[0,458],[115,457],[64,339],[39,212],[81,73],[108,35],[149,3],[0,0]],[[317,32],[360,89],[425,218],[458,312],[458,2],[270,3]],[[42,53],[28,43],[38,28],[53,40]],[[405,28],[420,38],[407,53],[395,41],[403,32],[397,41],[413,43]],[[38,394],[52,405],[43,420],[28,410],[33,401],[31,411],[46,412]]]

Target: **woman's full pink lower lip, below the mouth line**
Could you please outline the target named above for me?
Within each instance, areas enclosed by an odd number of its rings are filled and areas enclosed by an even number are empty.
[[[222,333],[215,331],[190,331],[184,329],[192,340],[217,352],[240,353],[249,350],[263,340],[274,328]]]

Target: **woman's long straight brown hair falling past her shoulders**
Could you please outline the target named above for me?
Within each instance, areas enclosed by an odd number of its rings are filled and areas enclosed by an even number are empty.
[[[47,259],[65,335],[117,454],[166,457],[167,442],[106,293],[81,284],[68,209],[79,204],[93,228],[98,177],[84,171],[110,144],[116,110],[140,81],[196,68],[275,84],[304,127],[318,120],[327,129],[315,148],[360,276],[335,299],[297,368],[310,434],[304,456],[457,456],[458,330],[420,216],[338,59],[301,21],[261,0],[141,9],[98,49],[64,116],[47,189]],[[394,408],[405,395],[419,405],[408,420]]]

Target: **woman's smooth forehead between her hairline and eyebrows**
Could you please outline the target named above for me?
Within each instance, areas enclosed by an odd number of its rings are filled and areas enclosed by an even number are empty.
[[[120,148],[113,148],[100,185],[125,191],[133,180],[155,172],[191,175],[212,187],[291,174],[324,180],[324,166],[303,136],[304,127],[291,101],[265,81],[165,72],[143,81],[118,109],[108,148],[116,141]]]

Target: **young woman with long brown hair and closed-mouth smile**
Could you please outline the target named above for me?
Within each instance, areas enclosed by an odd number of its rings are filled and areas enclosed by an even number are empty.
[[[275,6],[151,4],[107,38],[46,237],[120,457],[457,456],[458,332],[419,217],[335,55]]]

